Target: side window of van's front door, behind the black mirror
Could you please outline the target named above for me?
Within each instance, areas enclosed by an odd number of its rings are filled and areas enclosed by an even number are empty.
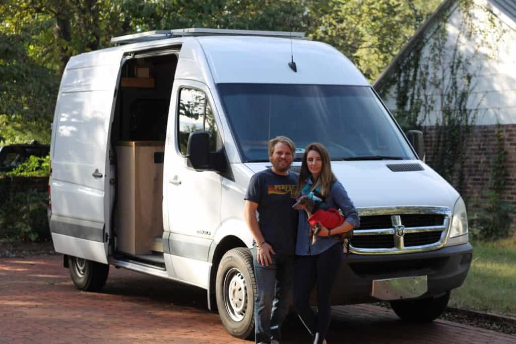
[[[186,155],[190,133],[206,130],[209,133],[209,150],[216,152],[222,148],[222,140],[211,105],[204,92],[182,88],[179,92],[179,149]]]

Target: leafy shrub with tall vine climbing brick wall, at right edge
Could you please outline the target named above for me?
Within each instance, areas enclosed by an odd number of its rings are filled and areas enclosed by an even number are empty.
[[[471,233],[479,239],[499,239],[510,234],[512,218],[510,214],[516,209],[514,205],[503,200],[502,193],[506,187],[509,170],[507,169],[507,151],[504,148],[504,133],[497,125],[496,151],[490,163],[490,190],[472,204],[470,218]]]

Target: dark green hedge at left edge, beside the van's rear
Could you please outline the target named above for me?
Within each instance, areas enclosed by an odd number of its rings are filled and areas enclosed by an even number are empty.
[[[48,194],[0,184],[0,238],[17,241],[50,240]]]

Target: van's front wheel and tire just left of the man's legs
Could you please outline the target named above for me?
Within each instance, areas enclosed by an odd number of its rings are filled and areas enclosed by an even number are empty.
[[[220,260],[215,283],[217,308],[225,329],[238,338],[254,338],[256,280],[249,249],[226,252]]]

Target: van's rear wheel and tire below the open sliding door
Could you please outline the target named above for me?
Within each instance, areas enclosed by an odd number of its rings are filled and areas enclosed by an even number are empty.
[[[75,288],[85,291],[102,289],[109,273],[107,264],[74,256],[68,256],[68,268]]]

